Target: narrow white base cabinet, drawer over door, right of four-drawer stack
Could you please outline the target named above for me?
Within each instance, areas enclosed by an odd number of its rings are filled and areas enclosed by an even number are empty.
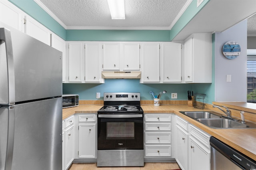
[[[176,116],[176,161],[188,170],[188,122]]]

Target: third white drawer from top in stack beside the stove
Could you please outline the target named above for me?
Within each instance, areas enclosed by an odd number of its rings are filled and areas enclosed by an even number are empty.
[[[171,143],[171,133],[145,133],[145,143]]]

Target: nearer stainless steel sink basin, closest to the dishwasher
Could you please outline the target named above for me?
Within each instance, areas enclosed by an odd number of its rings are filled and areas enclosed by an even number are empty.
[[[240,128],[252,128],[255,129],[256,125],[250,122],[242,124],[240,121],[234,121],[231,119],[197,119],[197,121],[203,123],[208,127],[215,129],[240,129]]]

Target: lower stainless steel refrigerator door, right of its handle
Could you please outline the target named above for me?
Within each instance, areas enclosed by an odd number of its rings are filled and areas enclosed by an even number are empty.
[[[14,107],[12,170],[61,170],[62,98]]]

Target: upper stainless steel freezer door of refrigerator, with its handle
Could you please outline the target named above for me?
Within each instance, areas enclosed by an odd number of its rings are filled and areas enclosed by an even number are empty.
[[[62,96],[62,52],[7,27],[0,23],[0,105]]]

